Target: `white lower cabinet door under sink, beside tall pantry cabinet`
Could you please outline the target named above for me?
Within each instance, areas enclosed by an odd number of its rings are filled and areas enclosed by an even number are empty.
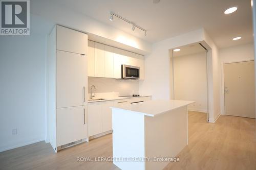
[[[88,134],[97,135],[102,132],[102,106],[101,103],[88,105]]]

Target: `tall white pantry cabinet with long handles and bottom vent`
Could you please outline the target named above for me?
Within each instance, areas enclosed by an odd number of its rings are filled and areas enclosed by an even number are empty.
[[[56,25],[49,36],[48,139],[55,152],[88,141],[85,33]]]

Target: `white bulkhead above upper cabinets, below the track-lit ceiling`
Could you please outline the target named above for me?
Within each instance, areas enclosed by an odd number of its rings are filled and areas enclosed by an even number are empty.
[[[99,22],[91,17],[78,13],[75,10],[71,10],[51,0],[31,1],[31,13],[48,21],[58,23],[59,25],[93,34],[92,38],[96,39],[92,40],[97,42],[99,41],[98,37],[102,37],[102,43],[104,43],[106,40],[113,41],[113,46],[115,46],[115,44],[118,44],[115,42],[119,42],[120,44],[124,45],[117,47],[127,47],[125,50],[133,51],[138,54],[151,53],[152,50],[152,44],[147,41],[137,38],[131,34],[127,34],[110,25],[106,25],[105,23]],[[90,34],[89,39],[91,39]],[[129,48],[129,46],[133,48]]]

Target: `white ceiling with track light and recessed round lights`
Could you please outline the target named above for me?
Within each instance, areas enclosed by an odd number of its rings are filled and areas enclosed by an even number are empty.
[[[199,28],[204,28],[220,48],[253,41],[250,0],[54,0],[58,4],[112,25],[149,42],[156,42]],[[238,10],[225,15],[225,9]],[[147,36],[138,29],[114,17],[110,11],[147,30]],[[233,37],[242,39],[233,41]]]

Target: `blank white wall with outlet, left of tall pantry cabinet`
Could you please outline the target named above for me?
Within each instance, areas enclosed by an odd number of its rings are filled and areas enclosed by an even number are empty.
[[[45,67],[46,35],[0,37],[0,152],[45,140]]]

